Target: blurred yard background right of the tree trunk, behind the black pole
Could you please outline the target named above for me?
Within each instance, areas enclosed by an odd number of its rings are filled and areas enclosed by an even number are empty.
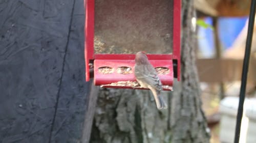
[[[197,64],[211,142],[233,142],[250,1],[196,0]],[[255,142],[254,24],[240,142]],[[253,129],[254,128],[254,129]]]

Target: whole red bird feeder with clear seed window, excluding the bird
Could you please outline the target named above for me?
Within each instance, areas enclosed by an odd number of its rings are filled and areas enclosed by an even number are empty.
[[[135,53],[148,47],[167,47],[168,54],[147,54],[163,89],[171,90],[174,78],[180,80],[181,0],[84,0],[84,8],[86,81],[94,78],[104,88],[141,89],[134,75]],[[96,43],[99,39],[103,42]],[[134,52],[97,53],[95,44]]]

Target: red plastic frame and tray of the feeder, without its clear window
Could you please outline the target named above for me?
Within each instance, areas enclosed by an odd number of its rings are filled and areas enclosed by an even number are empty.
[[[94,84],[104,88],[141,89],[134,75],[135,54],[95,54],[94,53],[94,0],[84,0],[86,8],[85,60],[86,81],[90,80],[93,68]],[[180,25],[181,0],[173,1],[173,36],[172,54],[147,54],[148,60],[155,68],[167,72],[159,73],[164,90],[171,90],[173,78],[180,80]],[[161,16],[161,15],[160,15]],[[137,52],[137,51],[136,51]],[[92,70],[91,70],[92,71]]]

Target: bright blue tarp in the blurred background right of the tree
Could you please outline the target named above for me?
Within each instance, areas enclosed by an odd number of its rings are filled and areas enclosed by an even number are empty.
[[[223,50],[232,46],[234,40],[243,29],[248,17],[220,17],[218,19],[218,32]],[[204,21],[212,25],[212,18],[206,17]],[[212,58],[215,56],[214,33],[210,28],[199,26],[198,44],[200,55],[204,58]]]

